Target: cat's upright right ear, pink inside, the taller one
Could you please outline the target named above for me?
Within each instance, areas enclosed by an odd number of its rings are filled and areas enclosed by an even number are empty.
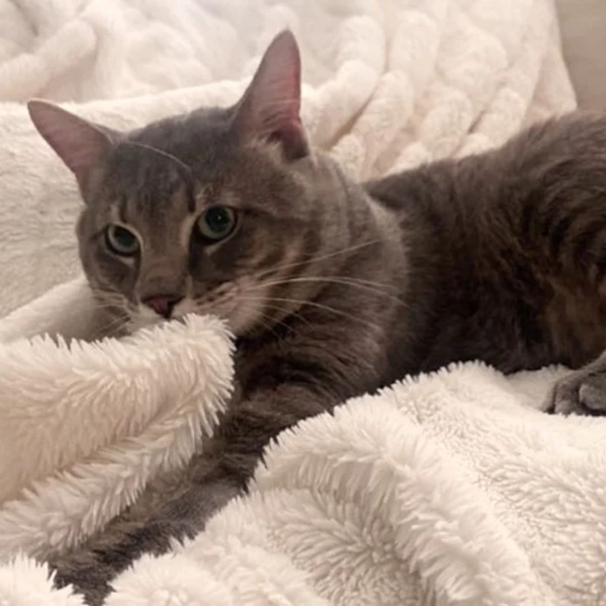
[[[285,158],[307,156],[301,123],[301,57],[289,30],[273,39],[236,106],[233,127],[244,139],[278,142]]]

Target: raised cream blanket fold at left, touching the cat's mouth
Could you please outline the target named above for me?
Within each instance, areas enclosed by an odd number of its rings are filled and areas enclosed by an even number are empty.
[[[0,561],[44,557],[102,528],[147,482],[183,467],[230,393],[222,322],[190,316],[121,341],[67,343],[93,329],[91,302],[79,279],[0,322]]]

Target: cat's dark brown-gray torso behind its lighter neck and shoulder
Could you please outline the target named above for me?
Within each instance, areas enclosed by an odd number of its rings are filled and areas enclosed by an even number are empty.
[[[400,222],[428,370],[582,364],[606,341],[606,118],[575,112],[501,148],[365,184]]]

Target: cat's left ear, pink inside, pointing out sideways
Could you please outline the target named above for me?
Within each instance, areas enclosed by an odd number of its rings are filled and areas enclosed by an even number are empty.
[[[83,190],[91,171],[112,150],[113,133],[46,101],[30,101],[27,109],[38,132],[74,173]]]

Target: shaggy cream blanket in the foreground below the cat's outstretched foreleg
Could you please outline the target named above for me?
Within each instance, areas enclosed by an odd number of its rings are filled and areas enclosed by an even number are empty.
[[[531,408],[561,373],[459,365],[302,422],[250,496],[107,604],[601,604],[606,419]],[[0,569],[0,602],[34,603],[36,575]]]

